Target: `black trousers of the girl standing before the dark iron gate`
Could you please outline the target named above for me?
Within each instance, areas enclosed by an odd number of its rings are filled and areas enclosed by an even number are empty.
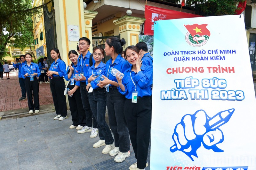
[[[67,102],[64,90],[66,88],[63,77],[50,79],[53,104],[57,115],[67,116]]]

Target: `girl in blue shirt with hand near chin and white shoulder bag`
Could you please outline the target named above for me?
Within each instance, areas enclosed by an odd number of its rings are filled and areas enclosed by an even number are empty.
[[[70,91],[68,92],[68,103],[73,123],[71,126],[69,126],[69,129],[74,129],[79,124],[82,125],[81,123],[85,113],[80,93],[80,81],[75,81],[75,79],[73,78],[74,75],[80,73],[80,69],[77,64],[77,52],[75,50],[69,51],[68,58],[72,63],[69,65],[69,69],[67,70],[67,73],[64,76],[64,78],[67,81],[70,80],[68,82],[68,88],[70,89]],[[72,94],[73,96],[71,96]]]

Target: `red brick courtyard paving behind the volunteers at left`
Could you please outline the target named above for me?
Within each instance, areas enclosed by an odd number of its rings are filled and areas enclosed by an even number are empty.
[[[28,101],[19,101],[21,97],[21,89],[18,78],[18,71],[10,72],[10,79],[0,80],[0,112],[6,110],[14,110],[27,108]],[[39,84],[39,103],[40,105],[48,105],[53,103],[50,84]]]

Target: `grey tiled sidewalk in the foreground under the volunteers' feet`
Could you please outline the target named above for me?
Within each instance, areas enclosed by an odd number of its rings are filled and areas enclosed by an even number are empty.
[[[63,121],[53,120],[55,115],[33,114],[0,120],[0,169],[128,170],[136,162],[132,145],[131,155],[116,163],[114,157],[101,153],[104,146],[92,147],[99,136],[90,138],[90,133],[78,134],[76,129],[69,129],[72,123],[69,111]]]

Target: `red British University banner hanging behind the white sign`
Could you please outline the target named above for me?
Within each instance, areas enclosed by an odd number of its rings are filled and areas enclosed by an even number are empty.
[[[167,10],[153,6],[145,6],[145,27],[144,35],[154,35],[154,21],[178,18],[203,17],[201,15],[190,14],[186,12]]]

